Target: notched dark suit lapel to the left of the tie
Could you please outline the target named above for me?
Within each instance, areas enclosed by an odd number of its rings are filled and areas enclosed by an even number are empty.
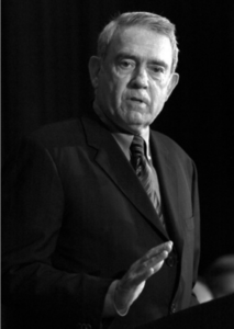
[[[168,240],[148,195],[110,132],[102,126],[102,123],[98,123],[97,118],[82,117],[81,121],[88,145],[97,149],[94,160],[98,166],[105,171],[142,215],[160,231],[164,239]]]

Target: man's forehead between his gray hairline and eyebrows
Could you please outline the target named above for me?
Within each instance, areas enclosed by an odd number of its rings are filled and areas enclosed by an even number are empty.
[[[111,60],[121,54],[145,60],[164,60],[169,67],[172,63],[169,37],[144,26],[131,26],[115,32],[107,57]]]

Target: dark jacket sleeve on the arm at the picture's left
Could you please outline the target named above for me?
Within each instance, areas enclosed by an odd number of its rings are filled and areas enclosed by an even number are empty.
[[[21,309],[25,328],[55,326],[55,321],[57,328],[65,324],[100,328],[111,281],[53,266],[65,195],[49,151],[24,140],[5,163],[2,178],[3,304]]]

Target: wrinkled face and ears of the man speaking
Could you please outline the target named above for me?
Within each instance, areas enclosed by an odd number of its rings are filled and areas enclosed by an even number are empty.
[[[103,61],[92,58],[94,106],[120,129],[141,134],[178,82],[178,75],[171,75],[169,38],[144,27],[129,27],[114,35]]]

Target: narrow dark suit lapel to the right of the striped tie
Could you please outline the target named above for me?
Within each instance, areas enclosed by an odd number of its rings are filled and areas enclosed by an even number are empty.
[[[168,234],[174,240],[177,250],[182,252],[183,247],[183,223],[179,215],[177,172],[175,163],[166,145],[151,133],[151,149],[154,164],[156,167],[163,200],[164,213],[167,219]]]

